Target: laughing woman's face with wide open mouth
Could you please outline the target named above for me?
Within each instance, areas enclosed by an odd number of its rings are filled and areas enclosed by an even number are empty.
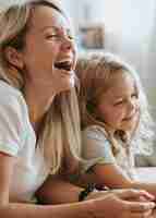
[[[60,93],[74,86],[75,47],[68,20],[50,7],[33,11],[21,51],[28,83]]]

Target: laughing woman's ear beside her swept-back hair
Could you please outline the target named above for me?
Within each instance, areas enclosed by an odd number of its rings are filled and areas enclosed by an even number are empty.
[[[4,49],[4,55],[9,63],[17,69],[23,69],[24,62],[22,58],[22,52],[17,51],[15,48],[9,46]]]

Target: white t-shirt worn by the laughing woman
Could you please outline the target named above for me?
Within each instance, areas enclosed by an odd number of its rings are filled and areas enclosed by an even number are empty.
[[[36,146],[25,99],[3,81],[0,81],[0,152],[16,157],[10,199],[29,202],[50,169]]]

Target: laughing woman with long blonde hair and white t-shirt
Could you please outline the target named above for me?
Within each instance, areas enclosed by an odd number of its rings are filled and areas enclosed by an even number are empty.
[[[76,172],[81,152],[75,49],[60,5],[38,0],[2,10],[0,65],[0,217],[149,217],[155,204],[144,191],[92,192],[82,203],[31,205],[35,193],[46,199],[49,186],[48,203],[64,195],[77,202],[82,193],[65,181],[47,180],[49,173]],[[142,197],[146,203],[127,201]]]

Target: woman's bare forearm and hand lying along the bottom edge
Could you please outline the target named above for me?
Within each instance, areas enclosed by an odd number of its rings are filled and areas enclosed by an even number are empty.
[[[144,195],[143,192],[121,191],[110,193],[105,197],[82,203],[55,206],[39,206],[27,204],[0,205],[0,217],[3,218],[152,218],[152,202],[128,202]]]

